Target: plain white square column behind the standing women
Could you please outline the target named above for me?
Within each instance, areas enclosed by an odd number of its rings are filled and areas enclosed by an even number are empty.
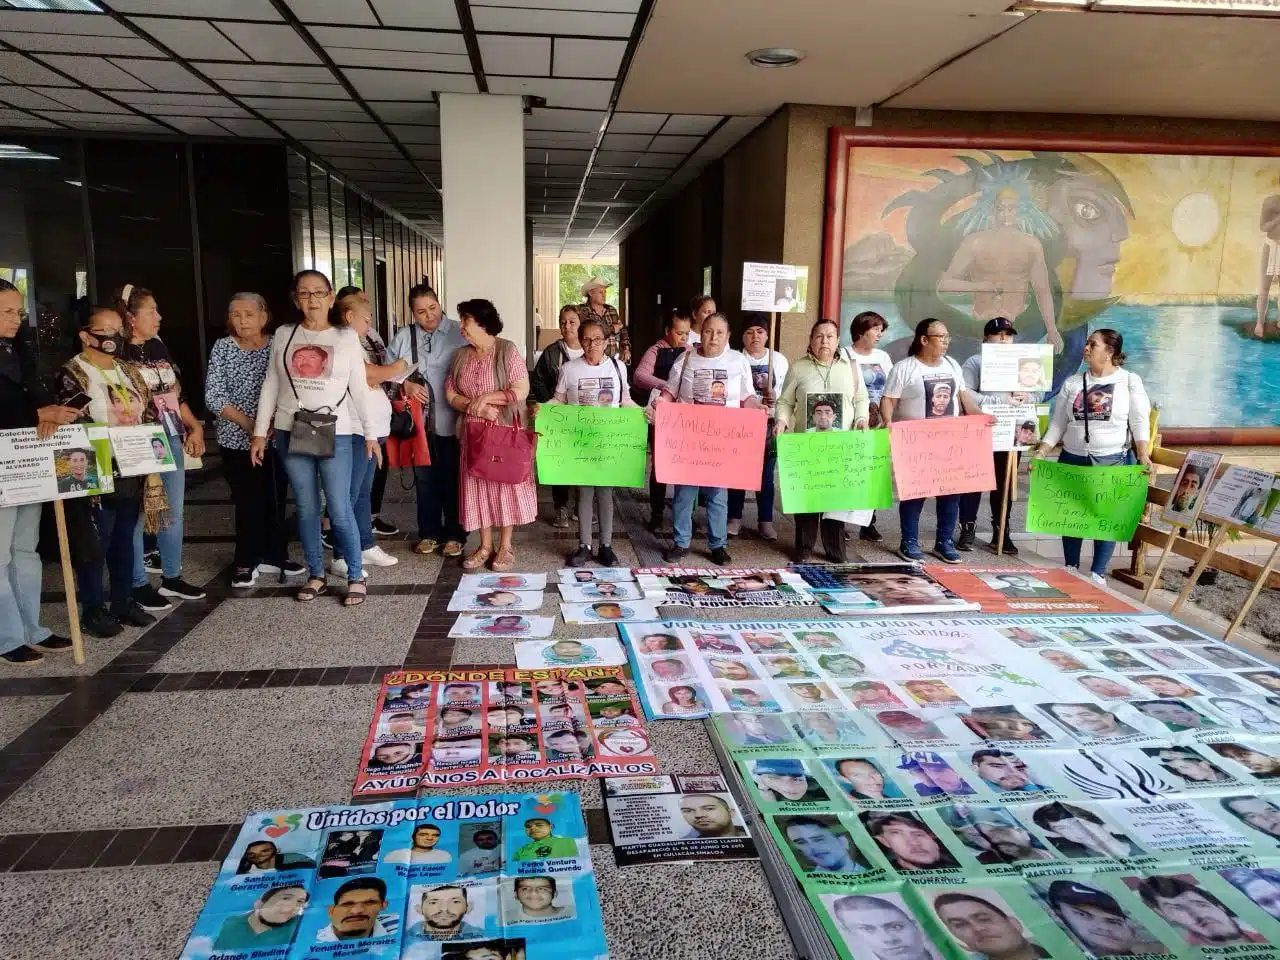
[[[493,301],[502,335],[532,356],[525,241],[525,114],[518,96],[440,93],[444,275],[449,316]]]

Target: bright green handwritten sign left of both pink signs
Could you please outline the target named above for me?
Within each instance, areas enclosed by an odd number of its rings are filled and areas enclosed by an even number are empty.
[[[639,407],[550,403],[538,411],[538,483],[644,486],[649,425]]]

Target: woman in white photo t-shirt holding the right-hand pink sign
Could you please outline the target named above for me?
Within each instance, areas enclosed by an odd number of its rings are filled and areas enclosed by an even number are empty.
[[[982,416],[978,398],[965,387],[960,365],[947,356],[951,334],[947,325],[932,317],[915,325],[915,337],[906,351],[906,358],[890,370],[881,398],[884,425],[895,420],[932,420],[961,413]],[[924,499],[901,500],[897,507],[902,526],[902,545],[899,556],[909,561],[923,561],[920,549],[920,513]],[[959,563],[955,532],[960,517],[960,494],[934,498],[938,530],[933,553],[946,563]]]

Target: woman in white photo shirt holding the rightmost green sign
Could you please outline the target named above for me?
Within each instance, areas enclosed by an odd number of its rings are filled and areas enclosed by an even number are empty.
[[[1087,369],[1062,384],[1053,402],[1044,439],[1036,448],[1034,461],[1062,444],[1059,463],[1082,467],[1114,467],[1142,463],[1151,470],[1151,399],[1142,379],[1124,369],[1124,337],[1103,328],[1084,342]],[[1069,567],[1080,568],[1076,536],[1062,538],[1062,557]],[[1089,579],[1106,585],[1107,566],[1116,545],[1112,540],[1093,541]]]

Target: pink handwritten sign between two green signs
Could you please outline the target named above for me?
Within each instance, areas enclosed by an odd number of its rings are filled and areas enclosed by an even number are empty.
[[[760,489],[768,430],[763,410],[659,403],[654,426],[658,483]]]

